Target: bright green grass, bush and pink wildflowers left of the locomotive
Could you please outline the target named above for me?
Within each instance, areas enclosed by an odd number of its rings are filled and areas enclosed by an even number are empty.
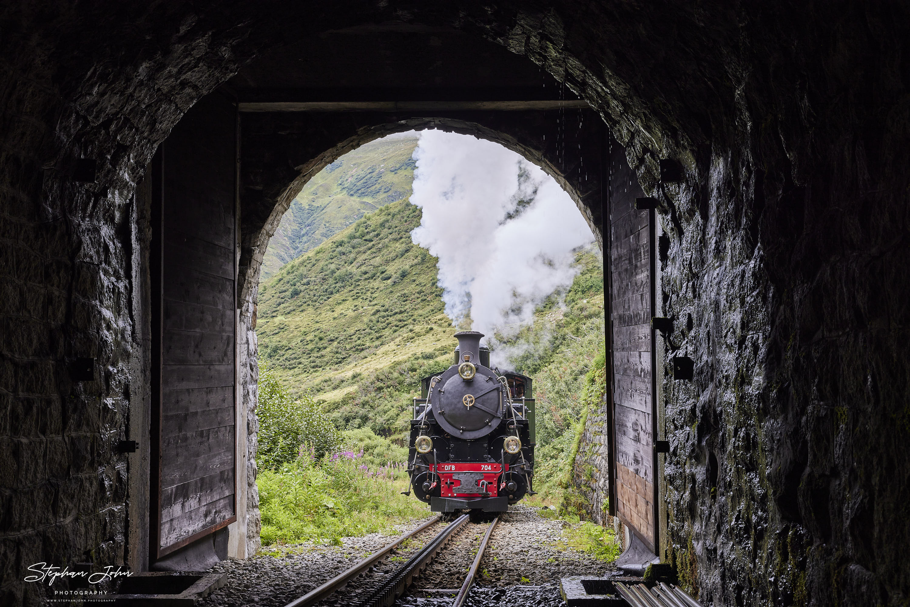
[[[429,513],[400,493],[407,486],[407,449],[369,428],[339,432],[319,403],[291,398],[268,368],[259,373],[257,414],[264,546],[340,543]]]

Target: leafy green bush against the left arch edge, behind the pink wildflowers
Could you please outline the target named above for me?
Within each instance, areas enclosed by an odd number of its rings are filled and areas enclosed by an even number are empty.
[[[320,458],[339,446],[338,430],[309,394],[293,400],[268,369],[259,369],[259,469],[277,470],[296,460],[306,444]]]

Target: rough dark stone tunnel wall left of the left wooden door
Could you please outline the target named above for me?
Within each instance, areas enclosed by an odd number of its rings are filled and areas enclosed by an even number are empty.
[[[171,126],[231,72],[201,56],[206,42],[171,40],[135,48],[125,77],[101,58],[133,37],[99,34],[117,29],[111,15],[18,8],[0,9],[0,604],[37,605],[75,584],[24,582],[35,563],[147,563],[145,512],[128,499],[148,467],[129,434],[148,397],[134,193]],[[136,84],[139,66],[180,65],[198,71]],[[73,379],[86,358],[94,379]],[[139,452],[120,452],[126,439]]]

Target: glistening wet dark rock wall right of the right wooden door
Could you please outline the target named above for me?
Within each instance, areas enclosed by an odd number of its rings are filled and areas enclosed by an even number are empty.
[[[692,71],[662,72],[675,61],[667,46],[645,60],[630,50],[635,35],[613,30],[629,46],[612,45],[605,80],[642,82],[634,88],[653,105],[616,88],[600,96],[592,72],[554,50],[561,35],[584,46],[584,25],[541,15],[509,39],[602,99],[642,187],[662,200],[660,300],[675,320],[662,353],[672,445],[662,556],[706,604],[900,604],[906,70],[875,42],[894,39],[895,15],[748,15],[749,42],[715,56],[717,71],[700,68],[716,94]],[[677,16],[666,29],[655,17],[644,36],[662,31],[682,55],[712,56],[711,35],[677,37]],[[690,95],[668,98],[664,78]],[[682,163],[682,184],[658,183],[667,157]],[[695,360],[692,382],[672,379],[672,355]]]

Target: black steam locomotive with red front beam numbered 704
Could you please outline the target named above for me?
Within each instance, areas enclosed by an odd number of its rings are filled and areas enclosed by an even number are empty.
[[[455,337],[455,364],[422,379],[414,399],[410,487],[434,512],[506,511],[534,493],[531,378],[490,369],[482,333]]]

